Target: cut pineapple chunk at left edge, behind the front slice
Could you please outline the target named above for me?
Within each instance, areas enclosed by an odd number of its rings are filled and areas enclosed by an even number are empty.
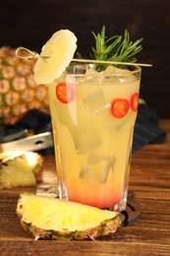
[[[0,154],[0,189],[35,185],[42,157],[33,152]]]

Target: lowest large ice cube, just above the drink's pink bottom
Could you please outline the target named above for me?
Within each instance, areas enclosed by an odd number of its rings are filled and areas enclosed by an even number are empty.
[[[113,171],[116,159],[90,154],[82,167],[80,177],[104,183],[110,171]]]

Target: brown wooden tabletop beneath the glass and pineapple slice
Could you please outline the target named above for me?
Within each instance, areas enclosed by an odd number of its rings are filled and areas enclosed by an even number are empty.
[[[95,241],[34,241],[15,214],[22,191],[55,193],[54,157],[44,160],[37,187],[0,191],[0,255],[170,255],[170,120],[161,120],[167,142],[133,154],[130,191],[142,207],[141,219]]]

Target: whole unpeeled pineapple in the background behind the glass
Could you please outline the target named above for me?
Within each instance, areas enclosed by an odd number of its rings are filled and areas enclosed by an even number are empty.
[[[35,83],[34,63],[18,58],[16,49],[0,48],[0,124],[15,124],[32,108],[48,112],[47,86]]]

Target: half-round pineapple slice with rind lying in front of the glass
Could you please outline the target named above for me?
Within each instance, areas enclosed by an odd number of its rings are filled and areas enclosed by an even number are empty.
[[[119,213],[29,193],[21,194],[16,213],[35,240],[94,240],[121,224]]]

